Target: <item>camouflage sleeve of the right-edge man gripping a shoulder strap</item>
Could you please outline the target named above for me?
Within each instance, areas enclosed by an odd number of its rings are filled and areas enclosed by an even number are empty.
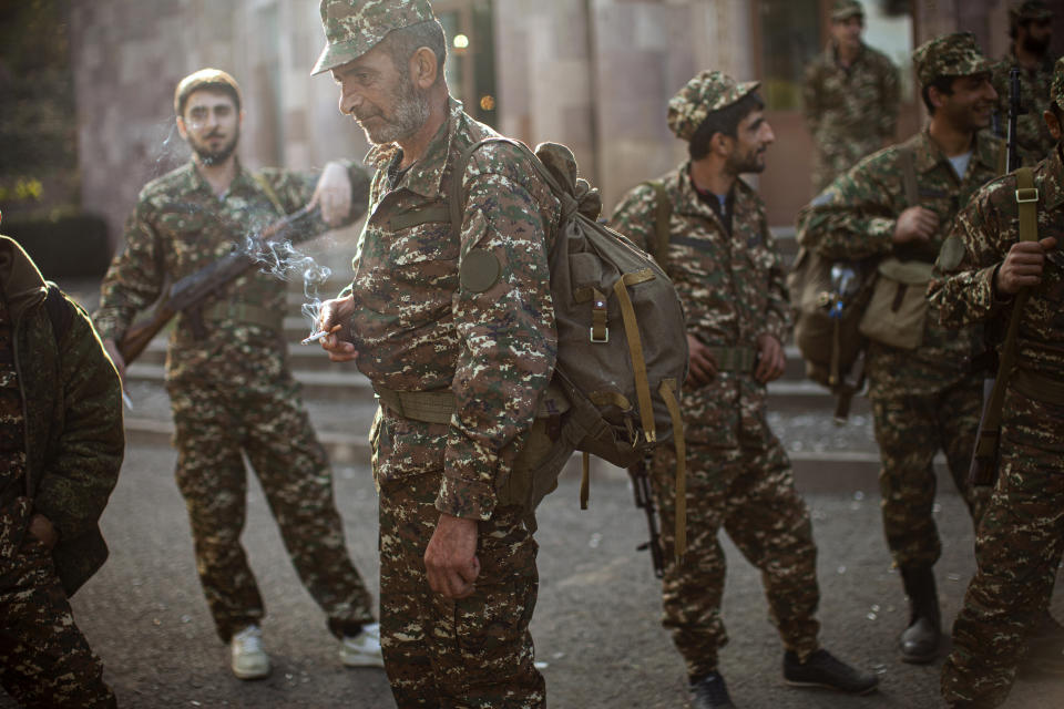
[[[932,280],[928,289],[930,300],[939,307],[943,327],[960,328],[988,320],[1005,302],[995,300],[993,291],[994,271],[1004,258],[1001,236],[1010,230],[991,206],[990,187],[1001,184],[991,183],[972,198],[943,244],[937,265],[941,277]],[[955,263],[949,263],[950,248],[963,248],[963,256]]]

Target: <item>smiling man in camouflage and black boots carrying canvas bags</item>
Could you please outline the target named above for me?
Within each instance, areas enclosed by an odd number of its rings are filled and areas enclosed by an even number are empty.
[[[971,34],[934,39],[913,52],[913,62],[930,125],[861,161],[798,217],[804,247],[829,259],[880,263],[877,287],[888,295],[894,288],[896,302],[909,288],[922,292],[958,209],[998,174],[1002,150],[1000,141],[980,132],[990,123],[996,94],[990,63]],[[913,274],[912,285],[902,288],[900,281],[887,280],[882,274],[888,268]],[[915,298],[924,311],[925,302]],[[864,370],[882,461],[883,530],[910,599],[901,657],[929,662],[940,640],[932,567],[941,543],[932,516],[932,460],[939,450],[945,452],[953,481],[978,521],[984,495],[966,476],[982,408],[983,373],[973,361],[983,346],[980,328],[942,327],[934,307],[904,335],[909,342],[871,340]]]

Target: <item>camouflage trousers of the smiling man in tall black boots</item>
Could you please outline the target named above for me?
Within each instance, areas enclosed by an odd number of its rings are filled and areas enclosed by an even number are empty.
[[[932,566],[942,553],[932,514],[935,453],[945,452],[953,484],[976,524],[990,495],[966,480],[982,411],[981,386],[971,378],[935,393],[873,395],[871,402],[887,546],[899,567]]]

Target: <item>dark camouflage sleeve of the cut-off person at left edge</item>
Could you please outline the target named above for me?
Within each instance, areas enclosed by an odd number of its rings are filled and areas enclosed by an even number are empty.
[[[59,342],[63,430],[50,451],[33,505],[60,536],[73,540],[94,528],[119,479],[125,448],[122,386],[114,364],[92,329],[75,310]]]

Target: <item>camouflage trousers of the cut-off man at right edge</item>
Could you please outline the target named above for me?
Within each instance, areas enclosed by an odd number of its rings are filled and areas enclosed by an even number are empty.
[[[1064,549],[1064,405],[1010,391],[998,484],[975,537],[978,569],[953,624],[942,696],[998,707],[1045,612]]]

